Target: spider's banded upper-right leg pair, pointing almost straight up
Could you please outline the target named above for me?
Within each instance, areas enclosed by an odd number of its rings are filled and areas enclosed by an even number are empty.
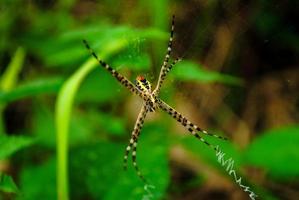
[[[172,23],[171,23],[171,31],[170,31],[170,37],[169,37],[169,41],[168,41],[168,47],[167,47],[167,53],[165,55],[162,67],[161,67],[161,71],[159,74],[159,79],[158,79],[158,83],[157,86],[155,88],[155,93],[158,95],[160,92],[160,88],[161,85],[165,79],[166,74],[170,71],[171,67],[177,62],[174,61],[174,64],[170,65],[170,67],[167,67],[168,61],[169,61],[169,57],[171,54],[171,50],[172,50],[172,41],[173,41],[173,34],[174,34],[174,15],[172,16]],[[177,59],[179,60],[179,59]]]

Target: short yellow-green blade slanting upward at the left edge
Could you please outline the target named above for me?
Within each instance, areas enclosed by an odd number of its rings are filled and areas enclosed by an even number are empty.
[[[18,75],[23,67],[25,55],[25,50],[22,47],[19,47],[16,50],[12,60],[7,66],[7,69],[0,78],[0,91],[9,91],[16,85]],[[0,102],[0,135],[5,133],[3,122],[3,110],[5,109],[5,107],[6,104]]]

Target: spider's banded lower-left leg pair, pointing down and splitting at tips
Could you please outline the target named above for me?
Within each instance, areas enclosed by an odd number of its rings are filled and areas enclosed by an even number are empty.
[[[141,174],[141,172],[138,168],[137,161],[136,161],[136,152],[137,152],[138,137],[140,135],[140,131],[142,129],[144,119],[145,119],[147,113],[148,113],[148,106],[145,104],[145,105],[143,105],[143,107],[141,108],[141,110],[139,112],[139,115],[137,117],[134,129],[133,129],[133,132],[132,132],[130,143],[126,148],[126,152],[125,152],[125,156],[124,156],[124,169],[126,170],[127,169],[128,156],[129,156],[129,153],[132,149],[133,166],[135,168],[135,171],[137,172],[137,175],[140,177],[140,179],[143,182],[146,182],[146,180],[145,180],[145,178],[143,177],[143,175]]]

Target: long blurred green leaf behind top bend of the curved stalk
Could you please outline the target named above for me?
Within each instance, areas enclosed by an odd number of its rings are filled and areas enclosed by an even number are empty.
[[[140,53],[140,45],[145,39],[164,39],[164,36],[164,32],[152,28],[138,30],[129,26],[113,27],[101,23],[70,30],[45,40],[30,40],[27,42],[31,45],[33,52],[39,54],[47,66],[74,67],[89,55],[82,43],[82,39],[89,41],[91,47],[96,52],[106,49],[113,41],[124,40],[128,47],[124,49],[125,55],[132,56],[131,63],[137,59],[134,65],[140,66],[141,64],[147,65],[149,63],[149,60],[144,60],[144,56],[142,59],[138,59],[139,56],[135,56]],[[128,58],[124,61],[126,60],[128,61]]]

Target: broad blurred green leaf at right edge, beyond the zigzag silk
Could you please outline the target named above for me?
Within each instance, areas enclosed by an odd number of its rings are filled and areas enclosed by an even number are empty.
[[[248,147],[244,160],[262,167],[269,175],[289,179],[299,176],[299,126],[262,133]]]

